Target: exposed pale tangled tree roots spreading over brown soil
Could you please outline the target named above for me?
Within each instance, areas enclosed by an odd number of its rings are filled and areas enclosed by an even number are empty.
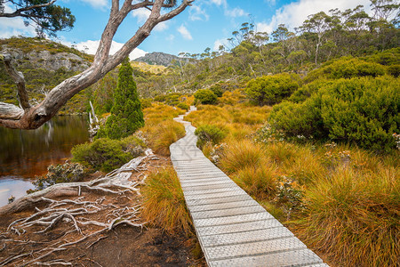
[[[28,209],[34,213],[13,221],[2,233],[0,249],[9,250],[9,256],[0,256],[0,266],[10,263],[21,266],[73,265],[76,259],[68,259],[68,256],[54,259],[53,254],[84,241],[88,243],[84,247],[93,247],[108,237],[108,231],[121,224],[142,230],[144,223],[139,223],[137,217],[140,205],[133,199],[140,193],[136,188],[139,183],[127,180],[131,174],[126,173],[144,169],[145,166],[140,164],[151,155],[134,158],[120,169],[91,182],[58,183],[1,207],[0,216]],[[102,197],[96,198],[99,194]]]

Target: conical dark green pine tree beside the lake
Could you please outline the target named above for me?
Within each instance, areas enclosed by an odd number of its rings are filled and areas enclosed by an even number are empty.
[[[104,129],[111,139],[120,139],[133,134],[144,125],[139,94],[133,81],[133,69],[126,58],[118,73],[118,83],[114,92],[114,105]]]

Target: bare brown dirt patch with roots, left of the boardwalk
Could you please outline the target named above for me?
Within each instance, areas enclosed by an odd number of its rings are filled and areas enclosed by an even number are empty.
[[[169,158],[148,158],[130,180],[143,182],[166,166],[171,166]],[[192,253],[196,237],[147,228],[140,203],[134,191],[91,192],[6,214],[0,217],[0,266],[205,266],[204,258],[195,259]]]

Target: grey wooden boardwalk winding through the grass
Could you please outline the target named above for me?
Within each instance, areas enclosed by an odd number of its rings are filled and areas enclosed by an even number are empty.
[[[328,266],[204,157],[195,127],[176,120],[187,134],[171,145],[172,164],[210,267]]]

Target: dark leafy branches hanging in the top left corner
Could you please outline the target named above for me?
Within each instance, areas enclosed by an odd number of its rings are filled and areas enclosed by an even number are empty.
[[[57,31],[74,27],[75,16],[69,8],[54,4],[57,0],[0,0],[0,17],[24,19],[25,26],[33,23],[38,36],[55,36]],[[5,12],[5,5],[14,11]]]

